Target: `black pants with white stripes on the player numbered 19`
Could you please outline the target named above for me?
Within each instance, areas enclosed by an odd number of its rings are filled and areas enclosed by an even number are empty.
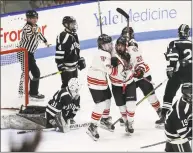
[[[166,152],[192,152],[192,149],[190,147],[189,142],[186,142],[183,144],[171,144],[167,142],[165,151]]]

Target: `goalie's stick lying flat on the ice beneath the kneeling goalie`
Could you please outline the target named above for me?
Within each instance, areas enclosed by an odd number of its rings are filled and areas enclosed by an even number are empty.
[[[72,124],[72,125],[70,125],[69,128],[70,128],[70,130],[76,130],[76,129],[79,129],[79,128],[82,128],[82,127],[87,127],[89,125],[90,125],[90,123]],[[23,130],[23,131],[17,132],[17,134],[24,134],[24,133],[31,133],[31,132],[38,132],[38,131],[44,131],[44,132],[55,131],[55,128]]]

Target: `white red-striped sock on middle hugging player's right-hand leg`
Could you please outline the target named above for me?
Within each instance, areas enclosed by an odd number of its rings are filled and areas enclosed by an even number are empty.
[[[127,106],[127,119],[129,122],[133,122],[136,109],[136,101],[127,101],[126,106]]]

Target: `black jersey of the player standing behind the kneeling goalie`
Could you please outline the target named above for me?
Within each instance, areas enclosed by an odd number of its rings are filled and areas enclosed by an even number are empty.
[[[68,31],[61,32],[56,39],[55,61],[58,65],[76,67],[80,59],[80,44],[78,35]]]

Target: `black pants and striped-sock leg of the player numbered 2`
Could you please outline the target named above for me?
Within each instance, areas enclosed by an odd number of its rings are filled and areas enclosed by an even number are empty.
[[[166,115],[166,112],[172,106],[173,98],[176,92],[180,88],[180,85],[185,82],[192,82],[192,65],[189,64],[186,67],[180,68],[178,72],[175,72],[171,79],[168,80],[165,88],[165,94],[163,97],[163,109],[162,115]]]

